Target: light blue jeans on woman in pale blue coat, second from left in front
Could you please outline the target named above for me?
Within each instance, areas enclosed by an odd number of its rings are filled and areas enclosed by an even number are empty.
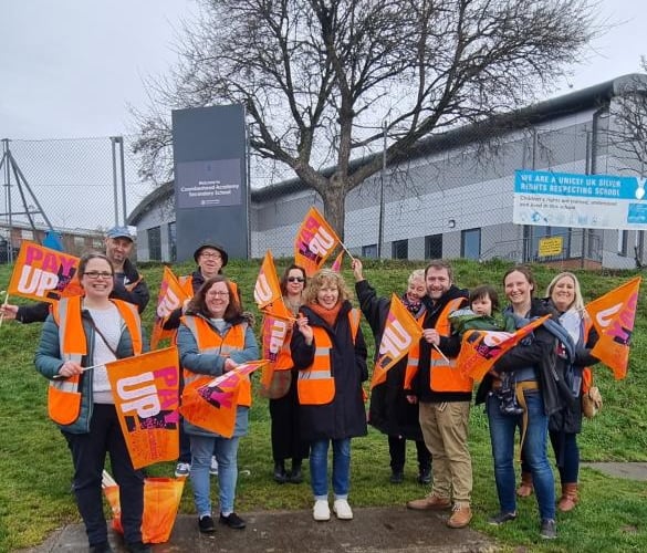
[[[211,456],[218,460],[218,484],[220,490],[220,512],[233,512],[236,482],[238,480],[239,438],[217,438],[216,436],[190,435],[191,440],[191,484],[198,517],[211,514],[211,479],[209,467]]]

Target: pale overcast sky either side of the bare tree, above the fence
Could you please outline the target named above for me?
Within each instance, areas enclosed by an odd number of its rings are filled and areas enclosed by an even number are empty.
[[[583,88],[639,70],[646,0],[601,0],[614,21],[571,80]],[[194,0],[4,0],[0,9],[0,138],[100,137],[135,132],[127,104],[165,72]],[[554,96],[568,92],[567,83]]]

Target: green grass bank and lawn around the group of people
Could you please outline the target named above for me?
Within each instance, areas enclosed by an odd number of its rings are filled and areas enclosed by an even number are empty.
[[[278,260],[282,271],[289,260]],[[252,305],[252,290],[260,261],[232,261],[227,274],[243,293],[246,307]],[[410,262],[365,261],[365,275],[383,295],[399,292],[409,272],[421,267]],[[492,283],[500,289],[501,276],[510,265],[500,261],[478,264],[457,260],[456,281],[461,286]],[[9,282],[10,269],[0,265],[0,288]],[[159,264],[144,264],[142,271],[155,296],[161,278]],[[190,264],[175,267],[177,274],[190,271]],[[543,292],[555,269],[534,268]],[[347,281],[352,274],[345,271]],[[625,282],[634,272],[577,273],[586,300],[592,300]],[[586,421],[580,438],[584,461],[647,461],[647,348],[645,291],[640,292],[638,314],[627,378],[616,382],[603,366],[595,371],[604,396],[604,409]],[[150,328],[154,310],[145,313]],[[260,317],[257,320],[257,326]],[[46,382],[33,369],[33,353],[40,324],[4,323],[0,327],[0,552],[33,546],[56,528],[77,522],[74,498],[70,493],[72,463],[63,437],[49,421],[45,411]],[[371,332],[364,325],[371,348]],[[369,354],[371,355],[371,354]],[[647,543],[647,483],[605,477],[594,470],[581,473],[582,501],[571,513],[559,515],[560,538],[540,543],[534,498],[520,502],[514,524],[493,529],[486,523],[498,510],[488,424],[481,408],[472,408],[470,447],[474,468],[472,528],[489,534],[510,551],[644,551]],[[421,497],[422,487],[415,482],[415,449],[409,445],[406,480],[401,486],[388,483],[389,459],[386,438],[371,429],[366,438],[353,441],[352,497],[356,507],[403,505]],[[241,440],[237,510],[241,513],[260,509],[309,509],[307,483],[278,487],[272,480],[270,417],[264,399],[255,399],[251,409],[250,435]],[[150,467],[155,476],[171,476],[173,463]],[[307,469],[306,469],[307,476]],[[194,513],[190,484],[185,489],[181,512]],[[35,522],[35,523],[34,523]]]

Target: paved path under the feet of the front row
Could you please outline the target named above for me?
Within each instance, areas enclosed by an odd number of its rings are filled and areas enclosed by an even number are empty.
[[[647,462],[584,462],[615,478],[647,481]],[[246,553],[490,553],[497,551],[488,538],[470,529],[450,530],[447,513],[418,512],[389,507],[355,509],[355,519],[314,522],[307,511],[262,511],[242,513],[246,530],[217,524],[216,533],[198,532],[195,515],[177,518],[167,543],[153,546],[163,552]],[[115,552],[125,551],[121,536],[111,533]],[[17,553],[87,551],[83,524],[71,524],[51,535],[42,545]]]

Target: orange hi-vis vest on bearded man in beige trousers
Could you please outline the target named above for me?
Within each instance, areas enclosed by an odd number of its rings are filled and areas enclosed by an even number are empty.
[[[463,303],[465,298],[456,298],[447,303],[443,310],[438,315],[434,328],[438,331],[440,336],[449,336],[451,334],[451,324],[449,323],[449,314],[459,309]],[[460,371],[456,368],[456,359],[450,358],[447,362],[442,355],[435,348],[431,348],[431,358],[429,362],[429,387],[432,392],[471,392],[473,382],[471,378],[462,376]],[[419,342],[409,349],[409,361],[407,361],[407,368],[405,371],[404,388],[411,388],[411,380],[418,373],[418,364],[420,361],[420,344]]]

